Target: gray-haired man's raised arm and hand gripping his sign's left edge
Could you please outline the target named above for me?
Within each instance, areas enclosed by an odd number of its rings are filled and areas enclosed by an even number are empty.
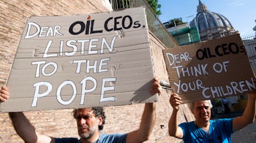
[[[168,131],[169,135],[172,137],[177,137],[179,139],[183,138],[183,131],[178,126],[177,123],[177,112],[179,111],[179,105],[182,104],[181,98],[178,94],[172,93],[170,97],[170,104],[173,107],[172,110],[172,116],[170,117],[169,123],[168,123]]]

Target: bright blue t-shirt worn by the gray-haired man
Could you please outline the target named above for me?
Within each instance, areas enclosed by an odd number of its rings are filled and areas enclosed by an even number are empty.
[[[183,130],[184,142],[214,142],[226,143],[231,142],[233,119],[217,119],[210,120],[209,132],[205,132],[202,128],[196,126],[194,121],[179,124]]]

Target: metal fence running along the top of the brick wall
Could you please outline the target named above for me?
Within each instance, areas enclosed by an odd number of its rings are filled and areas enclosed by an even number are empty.
[[[179,45],[174,40],[173,36],[167,31],[162,22],[158,19],[152,8],[146,0],[109,0],[113,10],[123,8],[134,8],[138,6],[145,6],[147,13],[148,29],[166,45],[168,48]]]

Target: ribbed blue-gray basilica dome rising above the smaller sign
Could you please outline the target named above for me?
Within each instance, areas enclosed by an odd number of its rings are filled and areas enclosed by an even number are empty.
[[[198,27],[202,41],[237,33],[229,20],[220,13],[209,11],[199,0],[197,14],[190,27]]]

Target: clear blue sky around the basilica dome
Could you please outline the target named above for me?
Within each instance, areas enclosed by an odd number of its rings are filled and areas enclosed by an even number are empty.
[[[220,13],[226,17],[240,36],[255,34],[256,0],[201,0],[209,11]],[[161,4],[161,22],[182,18],[183,22],[191,22],[196,17],[198,0],[158,0]],[[188,18],[188,21],[187,21]]]

